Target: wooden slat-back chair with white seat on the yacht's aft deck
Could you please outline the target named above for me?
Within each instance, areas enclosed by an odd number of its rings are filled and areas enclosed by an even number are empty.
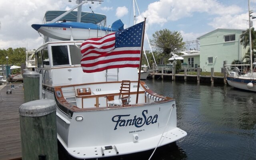
[[[114,100],[114,95],[105,96],[107,103],[110,106],[128,105],[130,103],[130,86],[130,80],[122,80],[118,100]]]

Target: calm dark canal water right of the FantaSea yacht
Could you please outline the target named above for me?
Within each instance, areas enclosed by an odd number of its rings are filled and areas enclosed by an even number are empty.
[[[146,80],[156,93],[176,99],[177,126],[188,135],[160,147],[151,160],[255,160],[256,93],[167,80]],[[104,160],[147,160],[153,150]]]

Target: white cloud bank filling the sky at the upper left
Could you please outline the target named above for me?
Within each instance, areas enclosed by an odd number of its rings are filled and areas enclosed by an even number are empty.
[[[31,25],[42,24],[48,10],[70,10],[74,5],[74,0],[71,3],[68,0],[0,0],[0,48],[40,46],[43,39]],[[84,4],[83,8],[88,5]],[[90,6],[96,10],[100,4],[90,3]]]

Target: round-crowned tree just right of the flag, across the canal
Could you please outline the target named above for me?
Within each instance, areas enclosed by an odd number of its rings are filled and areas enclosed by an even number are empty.
[[[152,35],[153,39],[150,39],[150,43],[152,46],[156,48],[156,50],[162,52],[162,60],[159,64],[164,64],[164,59],[170,58],[170,53],[176,50],[181,50],[185,45],[185,42],[182,42],[183,38],[180,32],[170,31],[168,29],[156,31]]]

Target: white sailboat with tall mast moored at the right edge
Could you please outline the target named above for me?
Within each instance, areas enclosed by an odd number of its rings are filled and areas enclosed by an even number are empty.
[[[248,9],[249,9],[249,44],[250,44],[250,72],[241,73],[239,68],[236,67],[235,72],[228,72],[229,76],[227,76],[227,82],[230,86],[233,86],[238,89],[242,89],[245,91],[256,92],[256,62],[252,60],[252,36],[251,36],[251,11],[250,11],[250,0],[248,0]],[[243,64],[242,64],[243,65]],[[226,65],[231,66],[231,65]],[[237,65],[234,65],[237,66]]]

